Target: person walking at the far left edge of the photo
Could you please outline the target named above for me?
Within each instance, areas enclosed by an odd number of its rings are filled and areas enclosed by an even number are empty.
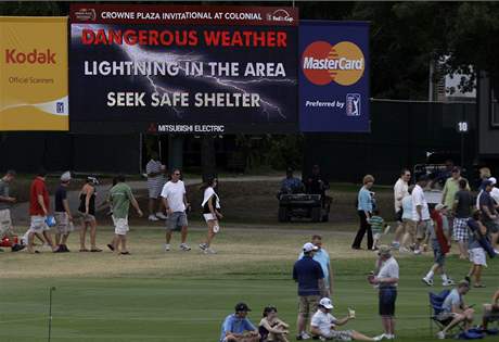
[[[12,241],[12,252],[18,252],[25,248],[15,241],[15,231],[12,225],[11,207],[17,200],[10,194],[10,185],[15,178],[15,170],[10,169],[0,180],[0,239],[8,237]]]

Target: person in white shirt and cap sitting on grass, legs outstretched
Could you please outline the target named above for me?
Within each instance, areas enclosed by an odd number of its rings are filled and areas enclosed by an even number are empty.
[[[354,317],[348,315],[345,318],[336,319],[331,315],[333,304],[328,297],[323,297],[319,301],[319,309],[314,314],[310,322],[310,332],[319,337],[322,341],[334,340],[334,341],[380,341],[381,339],[369,338],[355,330],[335,330],[336,326],[343,326],[347,324]]]

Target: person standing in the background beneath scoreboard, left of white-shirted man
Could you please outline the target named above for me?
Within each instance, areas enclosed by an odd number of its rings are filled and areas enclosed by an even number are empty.
[[[157,203],[157,199],[162,193],[165,179],[166,166],[159,161],[157,152],[151,153],[151,160],[145,165],[145,173],[148,175],[148,191],[149,191],[149,220],[155,221],[158,219],[166,219],[162,208],[164,207],[163,201]],[[157,211],[156,211],[157,207]]]

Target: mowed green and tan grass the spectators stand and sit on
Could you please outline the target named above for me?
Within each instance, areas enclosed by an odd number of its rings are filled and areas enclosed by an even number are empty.
[[[136,227],[129,235],[131,256],[103,253],[0,254],[2,276],[0,341],[47,341],[49,288],[53,292],[52,341],[218,341],[220,324],[239,301],[250,304],[250,318],[258,322],[267,304],[295,333],[296,284],[292,265],[300,245],[311,233],[324,237],[335,271],[334,315],[355,308],[357,319],[345,329],[369,335],[381,333],[376,291],[366,281],[373,268],[372,252],[349,250],[353,226],[341,230],[330,224],[230,225],[217,237],[216,255],[196,250],[205,233],[195,223],[190,235],[191,252],[163,252],[159,227]],[[112,237],[101,228],[102,245]],[[387,239],[389,240],[389,239]],[[69,248],[77,250],[76,236]],[[397,255],[398,257],[398,255]],[[434,341],[428,328],[428,288],[421,282],[432,263],[431,253],[405,255],[400,264],[397,300],[397,335],[400,341]],[[464,276],[469,263],[456,255],[448,259],[449,274]],[[498,286],[498,262],[485,270],[486,289],[473,289],[466,302],[488,302]],[[439,281],[436,281],[439,283]],[[434,291],[442,290],[439,284]],[[294,340],[294,337],[292,337]]]

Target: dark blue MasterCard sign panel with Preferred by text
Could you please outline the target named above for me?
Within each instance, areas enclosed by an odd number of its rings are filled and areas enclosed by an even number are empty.
[[[302,131],[370,130],[369,24],[299,23]]]

